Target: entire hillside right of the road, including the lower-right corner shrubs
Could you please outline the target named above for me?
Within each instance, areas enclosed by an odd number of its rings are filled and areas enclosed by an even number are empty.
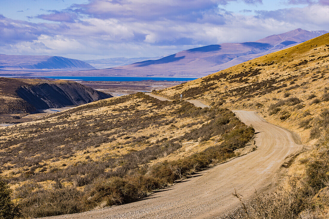
[[[256,199],[255,218],[329,215],[329,34],[172,88],[169,99],[200,99],[215,107],[253,110],[300,134],[308,146],[283,187]]]

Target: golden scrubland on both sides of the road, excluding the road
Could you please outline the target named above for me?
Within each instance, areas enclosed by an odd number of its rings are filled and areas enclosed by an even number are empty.
[[[225,108],[254,110],[300,135],[280,185],[241,217],[327,218],[329,34],[155,94],[106,99],[0,129],[1,176],[23,217],[138,200],[231,158],[254,130]],[[179,101],[200,99],[211,108]],[[238,197],[239,194],[236,194]],[[243,194],[242,194],[243,195]]]

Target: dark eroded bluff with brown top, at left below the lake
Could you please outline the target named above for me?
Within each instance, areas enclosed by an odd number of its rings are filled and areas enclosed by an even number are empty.
[[[0,114],[78,106],[111,97],[74,81],[0,78]]]

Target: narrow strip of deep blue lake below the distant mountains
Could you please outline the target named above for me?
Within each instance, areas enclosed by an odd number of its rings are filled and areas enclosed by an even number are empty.
[[[91,77],[91,76],[42,76],[53,79],[84,80],[84,81],[142,81],[142,80],[166,80],[166,81],[188,81],[195,80],[194,77]]]

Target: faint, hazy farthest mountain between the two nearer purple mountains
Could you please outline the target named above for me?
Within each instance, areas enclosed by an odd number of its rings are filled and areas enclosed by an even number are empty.
[[[91,59],[91,60],[84,60],[88,64],[94,66],[97,69],[104,69],[104,68],[112,68],[121,65],[129,65],[135,62],[146,61],[150,59],[160,59],[163,56],[158,57],[137,57],[137,58],[126,58],[126,57],[118,57],[118,58],[103,58],[103,59]]]

